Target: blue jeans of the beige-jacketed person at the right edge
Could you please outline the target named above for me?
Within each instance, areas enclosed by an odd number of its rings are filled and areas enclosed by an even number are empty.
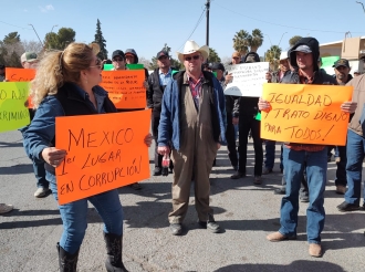
[[[346,150],[346,177],[348,189],[345,193],[345,201],[352,205],[359,205],[362,193],[363,159],[365,155],[365,138],[348,129]],[[365,187],[363,197],[365,197]]]

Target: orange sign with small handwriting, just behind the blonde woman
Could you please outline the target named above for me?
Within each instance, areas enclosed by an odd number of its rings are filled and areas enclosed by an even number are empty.
[[[144,70],[103,71],[105,88],[116,108],[145,108],[146,88]]]

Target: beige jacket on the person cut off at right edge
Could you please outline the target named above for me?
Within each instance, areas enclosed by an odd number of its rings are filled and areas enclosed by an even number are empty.
[[[363,136],[363,128],[359,119],[365,104],[365,74],[355,76],[346,84],[346,86],[354,87],[353,102],[357,102],[357,108],[348,124],[348,128],[354,133]]]

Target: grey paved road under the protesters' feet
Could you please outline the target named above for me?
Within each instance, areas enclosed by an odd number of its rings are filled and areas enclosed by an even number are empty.
[[[149,156],[152,163],[153,148]],[[325,253],[320,259],[307,254],[305,203],[301,203],[299,212],[299,240],[280,243],[265,240],[268,233],[279,228],[281,197],[273,195],[273,189],[278,188],[281,175],[277,161],[277,171],[264,176],[262,186],[253,186],[252,166],[250,144],[249,176],[231,180],[233,171],[227,151],[219,150],[211,175],[211,206],[225,229],[220,234],[198,228],[192,197],[186,231],[181,237],[169,233],[171,176],[152,177],[143,182],[140,191],[121,188],[126,268],[133,272],[364,271],[365,212],[336,210],[343,198],[334,192],[334,163],[328,165],[327,216],[322,234]],[[55,244],[62,232],[59,210],[52,196],[33,197],[35,179],[18,132],[0,134],[0,201],[15,206],[12,212],[0,216],[0,271],[58,271]],[[88,212],[79,271],[105,271],[102,222],[92,206]]]

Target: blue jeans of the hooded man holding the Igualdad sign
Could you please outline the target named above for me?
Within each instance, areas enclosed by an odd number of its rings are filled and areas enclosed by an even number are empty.
[[[279,232],[286,237],[296,236],[299,190],[301,188],[304,161],[310,203],[306,209],[306,234],[309,243],[321,243],[325,212],[324,189],[327,175],[327,148],[321,151],[295,151],[284,146],[284,175],[286,195],[281,201],[281,228]]]

